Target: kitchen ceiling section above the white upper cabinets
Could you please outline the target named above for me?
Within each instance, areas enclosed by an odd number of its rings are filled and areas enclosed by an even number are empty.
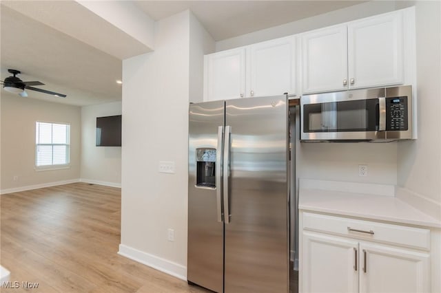
[[[366,1],[133,1],[155,20],[192,10],[215,41],[282,25]]]

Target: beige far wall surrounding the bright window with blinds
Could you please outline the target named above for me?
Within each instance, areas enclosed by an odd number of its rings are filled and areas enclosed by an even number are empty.
[[[78,181],[81,164],[80,107],[3,93],[0,99],[1,193]],[[70,124],[70,168],[34,169],[37,121]]]

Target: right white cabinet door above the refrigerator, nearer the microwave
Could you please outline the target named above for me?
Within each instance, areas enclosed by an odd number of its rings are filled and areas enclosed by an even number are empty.
[[[245,96],[296,94],[295,36],[250,45],[247,49],[249,83]]]

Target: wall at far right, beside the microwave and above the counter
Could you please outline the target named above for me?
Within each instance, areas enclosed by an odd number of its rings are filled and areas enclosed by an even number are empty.
[[[415,6],[418,139],[398,144],[398,184],[441,206],[441,4]]]

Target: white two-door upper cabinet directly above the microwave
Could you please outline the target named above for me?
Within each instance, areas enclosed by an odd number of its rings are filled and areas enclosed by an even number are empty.
[[[302,92],[404,83],[402,10],[302,35]]]

